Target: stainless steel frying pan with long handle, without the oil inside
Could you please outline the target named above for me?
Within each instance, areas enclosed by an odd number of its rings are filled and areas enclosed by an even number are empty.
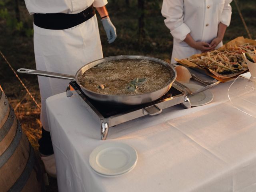
[[[78,78],[84,74],[84,72],[94,66],[96,66],[99,63],[105,62],[105,61],[110,61],[110,60],[120,60],[120,59],[146,59],[146,60],[151,60],[158,62],[160,64],[165,65],[167,68],[169,68],[173,73],[174,77],[170,81],[168,85],[166,85],[164,88],[160,90],[155,90],[154,92],[146,93],[146,94],[140,94],[140,95],[128,95],[128,96],[122,96],[122,95],[105,95],[105,94],[100,94],[96,92],[92,92],[91,90],[88,90],[82,86]],[[138,105],[138,104],[145,104],[148,102],[152,102],[154,100],[157,100],[158,98],[162,97],[164,94],[168,92],[168,90],[171,88],[172,83],[176,79],[177,73],[174,67],[172,67],[169,63],[153,58],[153,57],[148,57],[148,56],[139,56],[139,55],[121,55],[121,56],[111,56],[111,57],[106,57],[102,58],[99,60],[95,60],[93,62],[90,62],[84,66],[82,66],[77,72],[75,76],[72,75],[66,75],[66,74],[58,74],[58,73],[53,73],[53,72],[46,72],[46,71],[40,71],[40,70],[30,70],[30,69],[24,69],[20,68],[18,69],[18,72],[20,73],[26,73],[26,74],[36,74],[39,76],[46,76],[46,77],[53,77],[53,78],[60,78],[60,79],[68,79],[68,80],[75,80],[76,83],[81,87],[83,92],[91,99],[100,101],[100,102],[108,102],[111,104],[116,104],[116,105]]]

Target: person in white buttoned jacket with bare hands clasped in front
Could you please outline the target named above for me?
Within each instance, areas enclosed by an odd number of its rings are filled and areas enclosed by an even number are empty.
[[[232,0],[163,0],[162,15],[173,36],[171,63],[222,46]]]

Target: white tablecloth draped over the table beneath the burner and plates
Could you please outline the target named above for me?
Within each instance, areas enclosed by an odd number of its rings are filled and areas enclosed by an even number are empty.
[[[105,141],[100,124],[76,95],[48,98],[59,191],[255,192],[256,119],[229,102],[230,84],[212,88],[210,104],[177,105],[110,127]],[[89,155],[113,141],[136,149],[137,165],[121,176],[99,176],[90,168]]]

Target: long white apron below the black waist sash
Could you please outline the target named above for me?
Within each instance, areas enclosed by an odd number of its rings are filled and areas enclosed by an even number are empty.
[[[65,30],[49,30],[34,25],[36,69],[75,75],[88,62],[103,58],[96,15]],[[46,98],[66,91],[70,80],[38,76],[41,95],[41,123],[49,131]]]

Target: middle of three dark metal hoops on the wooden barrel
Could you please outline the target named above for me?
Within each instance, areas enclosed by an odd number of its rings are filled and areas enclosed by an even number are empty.
[[[16,150],[18,144],[20,143],[20,139],[22,136],[22,129],[21,129],[21,124],[17,120],[17,131],[16,135],[14,136],[11,144],[9,147],[5,150],[5,152],[0,155],[0,168],[9,160],[9,158],[12,156],[14,151]]]

